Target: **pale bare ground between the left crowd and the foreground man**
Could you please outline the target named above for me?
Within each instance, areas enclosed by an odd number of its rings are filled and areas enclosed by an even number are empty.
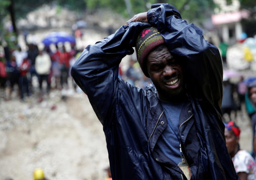
[[[50,180],[102,180],[109,166],[106,142],[83,93],[53,91],[0,103],[0,179],[32,179],[43,168]]]

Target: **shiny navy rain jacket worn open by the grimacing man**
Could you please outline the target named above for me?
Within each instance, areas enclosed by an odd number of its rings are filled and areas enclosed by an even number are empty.
[[[114,180],[187,179],[154,148],[168,122],[153,84],[145,90],[118,78],[121,59],[133,53],[142,28],[156,26],[183,64],[187,103],[181,110],[181,147],[193,180],[234,180],[221,120],[222,63],[201,29],[168,4],[152,5],[149,23],[131,22],[83,51],[71,69],[103,125]]]

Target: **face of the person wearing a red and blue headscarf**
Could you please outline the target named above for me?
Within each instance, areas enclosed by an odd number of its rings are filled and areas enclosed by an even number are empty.
[[[228,130],[225,128],[225,139],[226,139],[226,147],[228,149],[228,154],[234,154],[237,144],[239,142],[239,138],[235,136],[232,130]]]

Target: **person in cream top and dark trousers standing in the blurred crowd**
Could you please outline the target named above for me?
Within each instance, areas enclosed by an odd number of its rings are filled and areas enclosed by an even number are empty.
[[[50,88],[51,88],[51,84],[48,78],[50,69],[51,69],[51,59],[46,52],[39,51],[39,54],[36,57],[35,68],[39,76],[39,88],[40,88],[40,99],[41,99],[43,96],[43,91],[42,91],[43,81],[47,82],[47,94],[50,92]]]

